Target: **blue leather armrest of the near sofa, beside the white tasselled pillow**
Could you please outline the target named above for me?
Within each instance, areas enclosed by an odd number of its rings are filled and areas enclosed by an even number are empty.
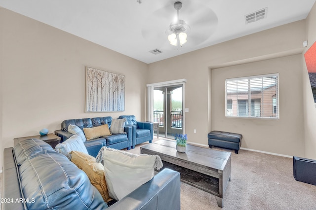
[[[163,169],[108,210],[180,210],[180,174]]]

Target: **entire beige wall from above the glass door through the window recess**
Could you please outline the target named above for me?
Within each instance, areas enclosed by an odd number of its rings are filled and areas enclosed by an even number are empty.
[[[185,127],[191,142],[207,145],[207,133],[217,129],[243,134],[242,147],[248,149],[304,156],[303,116],[299,113],[303,113],[301,53],[305,31],[305,20],[297,21],[156,62],[149,65],[148,83],[188,80]],[[224,79],[265,72],[280,72],[280,119],[225,118]],[[298,102],[287,103],[295,101],[291,91],[297,94]],[[271,135],[257,135],[263,131]]]

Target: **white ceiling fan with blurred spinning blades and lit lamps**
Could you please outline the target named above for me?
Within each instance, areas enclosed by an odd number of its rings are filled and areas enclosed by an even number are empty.
[[[173,45],[177,46],[177,48],[182,46],[185,43],[181,43],[183,39],[188,40],[185,44],[186,48],[194,48],[207,40],[216,31],[218,19],[211,8],[194,1],[184,0],[184,2],[185,4],[182,4],[181,1],[176,1],[173,3],[173,6],[167,3],[144,19],[141,32],[144,39],[149,41],[149,45],[155,45],[154,47],[168,51],[174,49]],[[174,9],[177,11],[175,18]],[[180,9],[181,19],[179,19]],[[175,21],[172,21],[173,19]],[[181,33],[187,34],[187,37],[185,35],[181,37]],[[171,34],[174,35],[170,36]],[[177,40],[177,34],[180,44]],[[168,36],[170,36],[169,39]]]

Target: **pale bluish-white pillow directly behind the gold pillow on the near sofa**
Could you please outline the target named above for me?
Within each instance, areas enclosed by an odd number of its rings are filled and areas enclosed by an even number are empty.
[[[87,148],[84,146],[81,137],[77,135],[71,136],[68,140],[57,144],[55,146],[55,151],[64,154],[69,160],[71,160],[69,154],[71,151],[79,151],[88,154]]]

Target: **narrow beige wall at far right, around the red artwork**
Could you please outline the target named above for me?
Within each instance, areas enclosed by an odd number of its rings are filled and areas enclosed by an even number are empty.
[[[304,53],[316,42],[316,4],[314,4],[306,19],[306,40],[308,46]],[[304,55],[302,55],[304,61]],[[316,159],[316,105],[311,89],[311,83],[305,62],[303,62],[303,105],[304,105],[304,132],[305,132],[305,157]]]

